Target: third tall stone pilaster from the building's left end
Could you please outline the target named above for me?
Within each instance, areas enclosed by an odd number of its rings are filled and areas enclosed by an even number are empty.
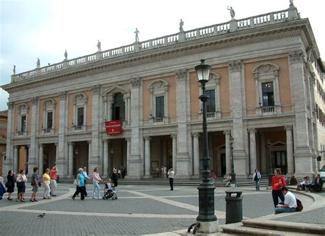
[[[58,154],[56,158],[56,165],[58,166],[58,175],[67,175],[68,168],[67,163],[67,119],[68,119],[68,107],[67,107],[67,92],[60,92],[60,114],[59,114],[59,137],[58,137]]]

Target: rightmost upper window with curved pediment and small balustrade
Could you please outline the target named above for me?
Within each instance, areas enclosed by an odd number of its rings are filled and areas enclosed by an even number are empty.
[[[278,65],[270,62],[254,68],[256,90],[256,114],[272,115],[281,113]]]

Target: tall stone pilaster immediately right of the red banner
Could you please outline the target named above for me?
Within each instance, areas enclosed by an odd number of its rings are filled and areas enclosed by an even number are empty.
[[[139,77],[131,79],[131,157],[128,170],[129,177],[140,178],[143,175],[143,157],[141,156],[141,140],[139,122],[142,106],[141,100],[141,79]]]

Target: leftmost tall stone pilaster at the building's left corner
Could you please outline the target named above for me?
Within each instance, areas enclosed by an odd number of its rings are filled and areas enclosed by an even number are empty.
[[[6,144],[6,159],[3,163],[3,173],[8,173],[9,170],[14,169],[14,146],[12,137],[14,133],[14,103],[8,102],[8,123],[7,123],[7,144]]]

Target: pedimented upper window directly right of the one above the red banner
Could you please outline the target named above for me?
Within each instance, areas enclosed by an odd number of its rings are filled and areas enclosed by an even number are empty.
[[[149,86],[150,121],[153,124],[165,124],[169,122],[168,88],[169,84],[163,79],[158,79]]]

